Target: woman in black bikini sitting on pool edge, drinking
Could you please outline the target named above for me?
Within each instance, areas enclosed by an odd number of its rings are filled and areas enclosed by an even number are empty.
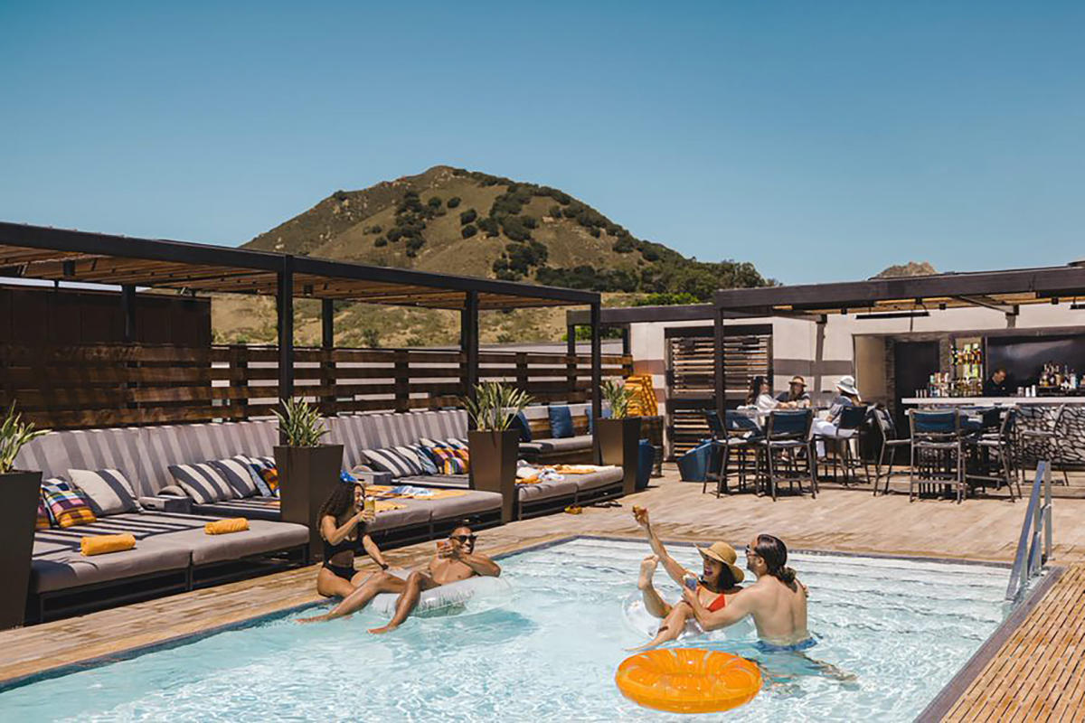
[[[366,489],[361,485],[337,485],[320,507],[320,537],[324,541],[324,564],[317,573],[317,592],[324,597],[346,597],[366,581],[369,572],[354,569],[354,553],[361,546],[388,569],[380,548],[366,532],[373,514],[365,511]]]

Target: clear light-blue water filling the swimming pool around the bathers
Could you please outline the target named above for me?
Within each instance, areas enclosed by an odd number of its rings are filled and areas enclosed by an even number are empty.
[[[515,590],[503,607],[411,619],[384,636],[366,632],[384,622],[373,614],[312,625],[294,622],[311,611],[295,614],[9,689],[0,720],[677,720],[614,684],[625,648],[646,642],[627,610],[648,553],[596,539],[519,553],[501,559]],[[672,554],[700,567],[692,547]],[[807,655],[855,681],[758,654],[748,628],[703,645],[757,658],[771,679],[735,720],[911,720],[1009,611],[1006,568],[825,554],[790,563],[810,591],[818,644]],[[655,581],[678,597],[662,568]]]

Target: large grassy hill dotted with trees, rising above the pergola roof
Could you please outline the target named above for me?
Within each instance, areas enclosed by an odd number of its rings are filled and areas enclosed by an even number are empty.
[[[558,189],[448,166],[336,191],[245,246],[701,301],[716,288],[768,283],[751,263],[698,261],[641,241]]]

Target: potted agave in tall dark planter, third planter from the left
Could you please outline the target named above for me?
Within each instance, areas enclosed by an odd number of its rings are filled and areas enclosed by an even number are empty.
[[[468,432],[471,487],[501,494],[502,522],[512,520],[516,503],[520,430],[512,427],[512,419],[531,401],[523,389],[500,382],[483,382],[475,387],[474,399],[463,400],[474,425]]]

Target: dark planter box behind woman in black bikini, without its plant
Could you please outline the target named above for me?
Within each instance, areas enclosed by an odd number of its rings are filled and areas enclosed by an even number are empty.
[[[320,555],[320,520],[317,513],[336,485],[343,468],[343,446],[276,447],[282,521],[309,528],[309,558]]]

